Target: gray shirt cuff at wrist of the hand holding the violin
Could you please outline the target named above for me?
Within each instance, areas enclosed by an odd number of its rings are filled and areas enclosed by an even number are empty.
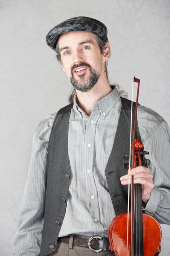
[[[142,204],[142,209],[150,214],[150,215],[154,215],[156,208],[159,204],[160,201],[160,192],[159,192],[159,188],[154,187],[151,194],[150,194],[150,199],[146,204],[146,207],[144,208],[144,205]]]

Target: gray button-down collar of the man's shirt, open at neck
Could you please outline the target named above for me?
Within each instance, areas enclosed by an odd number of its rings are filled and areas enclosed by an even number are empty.
[[[98,102],[96,102],[94,104],[93,111],[99,109],[100,113],[102,114],[103,119],[104,119],[119,100],[120,100],[119,92],[118,92],[117,88],[114,87],[113,90],[111,91],[111,93],[109,93],[104,98],[100,99]],[[86,114],[77,105],[77,96],[76,96],[76,94],[74,95],[73,102],[74,102],[74,105],[73,105],[74,111],[76,111],[82,119],[82,115],[86,116]]]

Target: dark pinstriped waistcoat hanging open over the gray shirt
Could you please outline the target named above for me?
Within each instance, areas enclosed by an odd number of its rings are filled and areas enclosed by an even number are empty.
[[[116,215],[127,211],[127,186],[120,183],[120,177],[127,174],[127,170],[123,167],[127,160],[123,159],[123,155],[129,151],[131,101],[124,98],[121,100],[122,108],[118,128],[105,169],[108,189]],[[47,256],[55,251],[59,230],[65,216],[71,180],[68,158],[68,126],[72,106],[73,104],[70,104],[58,111],[51,129],[48,144],[47,184],[40,256]],[[135,103],[133,103],[133,118],[134,112]],[[141,139],[138,125],[136,137]]]

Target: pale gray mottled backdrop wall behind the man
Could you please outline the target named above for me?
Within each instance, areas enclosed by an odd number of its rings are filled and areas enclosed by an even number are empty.
[[[45,36],[79,15],[108,27],[111,81],[131,94],[133,75],[141,79],[140,104],[170,125],[170,0],[0,0],[0,256],[11,255],[34,130],[71,89]],[[166,256],[170,227],[162,230]]]

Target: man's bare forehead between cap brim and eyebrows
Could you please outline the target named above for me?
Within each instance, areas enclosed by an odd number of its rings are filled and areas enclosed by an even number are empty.
[[[94,43],[97,43],[96,39],[94,38],[94,34],[92,32],[87,31],[72,31],[72,32],[66,32],[62,33],[59,36],[59,48],[63,47],[64,44],[75,45],[79,44],[82,41],[91,40]]]

